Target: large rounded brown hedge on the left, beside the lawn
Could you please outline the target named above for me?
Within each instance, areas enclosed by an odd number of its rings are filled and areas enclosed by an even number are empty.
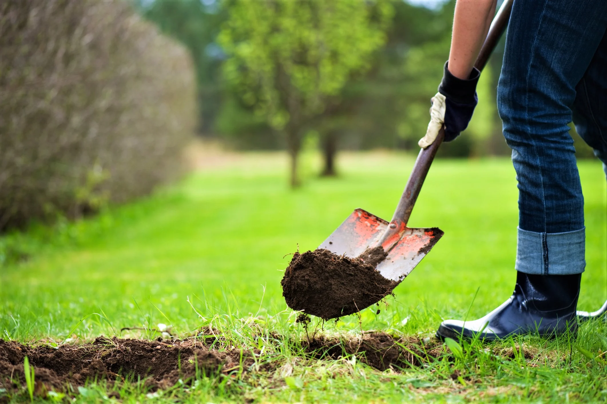
[[[174,179],[195,119],[188,53],[126,2],[0,4],[0,230]]]

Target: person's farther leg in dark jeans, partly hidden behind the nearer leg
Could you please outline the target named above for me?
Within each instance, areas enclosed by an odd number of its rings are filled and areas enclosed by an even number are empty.
[[[575,91],[575,129],[603,162],[607,176],[607,32]]]

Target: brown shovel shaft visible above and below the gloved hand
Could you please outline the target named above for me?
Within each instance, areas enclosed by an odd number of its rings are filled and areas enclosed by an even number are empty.
[[[476,69],[483,70],[483,67],[485,67],[487,61],[489,60],[489,56],[493,52],[493,49],[495,49],[495,46],[497,46],[498,42],[500,41],[501,35],[503,34],[504,30],[506,30],[513,1],[514,0],[505,0],[501,5],[500,10],[495,15],[495,18],[493,18],[493,22],[489,27],[489,33],[487,33],[487,39],[485,39],[483,47],[478,54],[478,58],[476,58],[476,62],[474,64]],[[430,165],[432,165],[434,156],[436,156],[436,151],[438,151],[439,146],[441,143],[443,143],[444,138],[445,131],[443,126],[443,128],[441,128],[441,130],[438,132],[438,136],[432,145],[419,151],[418,157],[415,160],[415,165],[413,166],[413,171],[409,176],[409,181],[407,181],[407,185],[402,193],[401,200],[398,202],[398,206],[396,207],[396,211],[394,212],[394,216],[390,222],[390,227],[386,233],[402,231],[402,229],[407,225],[409,217],[411,216],[411,211],[413,210],[413,206],[415,205],[415,201],[419,195],[419,191],[421,191],[421,187],[424,184],[424,180],[426,179],[426,175],[430,169]],[[393,239],[393,235],[384,235],[382,242],[380,242],[384,248],[390,248],[390,246],[388,246],[386,243],[388,239]]]

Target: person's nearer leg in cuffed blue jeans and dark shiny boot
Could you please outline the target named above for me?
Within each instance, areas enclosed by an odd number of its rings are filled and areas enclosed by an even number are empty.
[[[506,303],[439,337],[487,339],[575,327],[585,267],[583,196],[568,123],[575,86],[607,27],[607,2],[515,0],[498,87],[519,189],[517,284]]]

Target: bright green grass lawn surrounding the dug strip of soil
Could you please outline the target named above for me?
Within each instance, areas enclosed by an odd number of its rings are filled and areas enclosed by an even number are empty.
[[[0,239],[2,337],[51,343],[73,334],[79,340],[100,334],[145,338],[154,335],[121,334],[120,329],[157,323],[188,335],[209,319],[229,333],[242,329],[237,319],[250,316],[259,317],[257,322],[265,329],[299,337],[302,329],[294,324],[280,290],[282,270],[290,259],[285,255],[297,248],[316,248],[354,208],[390,219],[413,157],[347,154],[341,159],[341,176],[331,179],[313,175],[316,163],[316,156],[305,157],[304,185],[292,191],[286,186],[282,154],[242,154],[99,216],[75,223],[59,221],[53,227],[34,225],[24,233],[4,236]],[[607,298],[605,174],[595,161],[582,161],[579,167],[586,201],[588,265],[578,309],[595,310]],[[325,332],[356,333],[362,327],[427,337],[441,318],[463,318],[468,310],[469,318],[484,315],[506,300],[514,287],[517,222],[516,180],[508,159],[436,161],[410,226],[440,227],[445,236],[397,287],[387,309],[382,307],[379,315],[364,310],[361,324],[354,316],[324,324]],[[607,335],[607,327],[585,324],[577,341],[594,354],[607,349],[595,332]],[[231,341],[244,348],[253,343],[237,334]],[[274,360],[293,362],[293,374],[305,382],[303,388],[293,383],[285,386],[277,375],[259,374],[227,388],[220,387],[219,379],[207,378],[199,389],[175,388],[152,399],[607,398],[607,368],[600,358],[588,360],[576,349],[571,351],[571,341],[562,339],[531,337],[518,342],[539,350],[537,357],[548,358],[536,358],[537,363],[530,365],[520,356],[493,357],[473,345],[464,347],[461,358],[395,374],[360,364],[354,369],[345,360],[305,360],[283,349],[275,352]],[[512,341],[497,346],[508,344]],[[452,380],[454,369],[461,369],[469,382]],[[80,400],[103,400],[100,385],[89,389],[91,393],[79,395]],[[134,402],[146,392],[134,386],[124,394],[124,400]],[[29,399],[27,392],[19,397],[13,399]]]

